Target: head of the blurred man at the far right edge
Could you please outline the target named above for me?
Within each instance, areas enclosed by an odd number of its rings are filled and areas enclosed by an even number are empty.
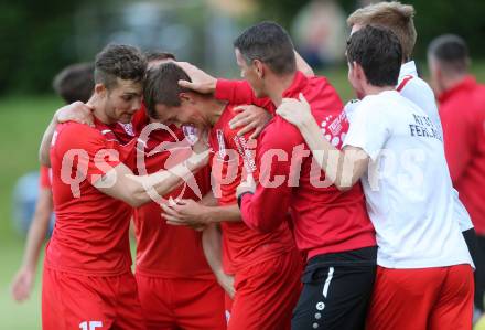
[[[466,42],[454,34],[435,38],[428,46],[431,84],[438,93],[446,91],[462,79],[468,71],[470,56]]]

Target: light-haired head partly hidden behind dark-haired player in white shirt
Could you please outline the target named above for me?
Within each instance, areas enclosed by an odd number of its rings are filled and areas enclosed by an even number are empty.
[[[411,58],[414,49],[417,32],[413,22],[414,8],[397,1],[378,2],[354,11],[347,19],[352,33],[365,25],[380,25],[392,31],[402,47],[402,62]]]

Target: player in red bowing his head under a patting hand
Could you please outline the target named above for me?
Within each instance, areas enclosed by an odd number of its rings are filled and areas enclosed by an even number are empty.
[[[256,168],[248,147],[249,134],[238,136],[229,127],[237,105],[182,88],[177,85],[180,79],[190,78],[174,63],[151,71],[144,102],[151,117],[211,129],[209,142],[215,151],[211,160],[213,191],[218,205],[182,200],[176,205],[162,206],[164,217],[172,224],[220,223],[224,268],[235,274],[236,294],[228,329],[289,329],[300,289],[300,255],[285,217],[266,234],[241,222],[236,187]]]

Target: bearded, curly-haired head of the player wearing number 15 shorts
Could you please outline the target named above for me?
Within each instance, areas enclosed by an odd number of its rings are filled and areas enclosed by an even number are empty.
[[[110,44],[96,56],[95,94],[112,123],[130,123],[140,108],[147,60],[129,45]]]

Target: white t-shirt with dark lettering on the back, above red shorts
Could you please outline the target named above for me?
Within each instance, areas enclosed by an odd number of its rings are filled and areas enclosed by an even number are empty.
[[[396,91],[366,96],[344,146],[370,157],[362,183],[376,228],[377,264],[428,268],[472,264],[457,222],[439,128]]]

